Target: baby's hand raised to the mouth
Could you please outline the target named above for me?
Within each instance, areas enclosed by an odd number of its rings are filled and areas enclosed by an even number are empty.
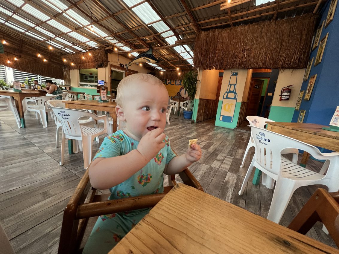
[[[165,143],[163,140],[165,139],[166,135],[163,133],[163,131],[164,129],[157,128],[149,131],[141,138],[137,150],[141,153],[146,161],[152,160],[158,154],[158,152],[164,148]]]

